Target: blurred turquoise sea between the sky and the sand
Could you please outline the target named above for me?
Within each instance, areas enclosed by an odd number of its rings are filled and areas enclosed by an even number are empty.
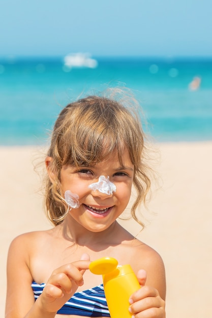
[[[212,58],[64,57],[0,59],[0,145],[48,143],[68,103],[127,88],[156,142],[212,140]]]

